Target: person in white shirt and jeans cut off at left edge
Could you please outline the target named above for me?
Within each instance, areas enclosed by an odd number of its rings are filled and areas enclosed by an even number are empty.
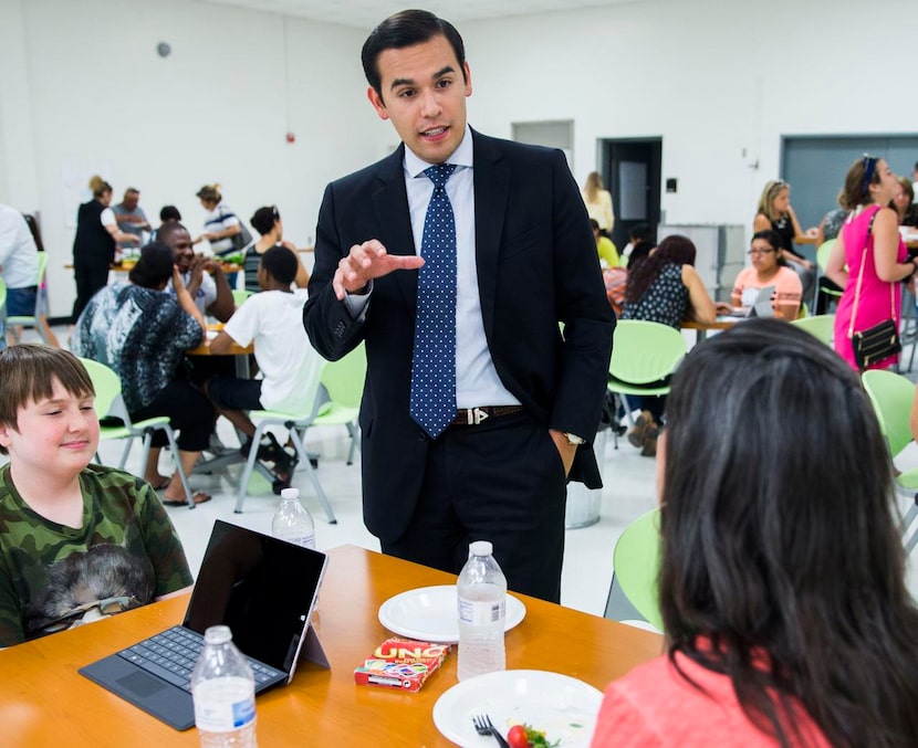
[[[0,204],[0,277],[7,286],[8,317],[35,314],[39,254],[29,224],[15,208]],[[0,348],[7,345],[0,319]]]

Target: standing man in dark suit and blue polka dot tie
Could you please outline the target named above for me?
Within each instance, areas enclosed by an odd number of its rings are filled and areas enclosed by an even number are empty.
[[[384,552],[453,573],[491,540],[511,589],[559,601],[566,481],[602,485],[615,325],[580,190],[561,151],[468,127],[448,22],[393,15],[363,64],[403,145],[327,187],[303,320],[326,358],[366,343],[364,520]]]

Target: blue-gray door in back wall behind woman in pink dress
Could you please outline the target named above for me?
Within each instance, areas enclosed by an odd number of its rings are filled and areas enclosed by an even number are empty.
[[[791,204],[805,231],[838,207],[845,173],[864,154],[885,158],[897,175],[911,178],[918,135],[785,137],[781,175],[791,186]]]

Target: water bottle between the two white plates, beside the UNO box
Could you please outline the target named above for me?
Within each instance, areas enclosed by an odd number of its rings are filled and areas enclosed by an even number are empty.
[[[457,583],[459,598],[459,679],[507,668],[503,625],[507,578],[489,540],[469,546],[469,560]]]

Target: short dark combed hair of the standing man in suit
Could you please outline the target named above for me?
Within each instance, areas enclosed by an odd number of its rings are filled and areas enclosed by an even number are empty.
[[[389,15],[369,32],[361,51],[364,75],[373,89],[383,98],[379,75],[379,55],[386,50],[401,50],[406,46],[424,44],[434,36],[445,36],[456,53],[462,80],[466,80],[466,45],[462,38],[449,21],[444,21],[426,10],[403,10]]]

